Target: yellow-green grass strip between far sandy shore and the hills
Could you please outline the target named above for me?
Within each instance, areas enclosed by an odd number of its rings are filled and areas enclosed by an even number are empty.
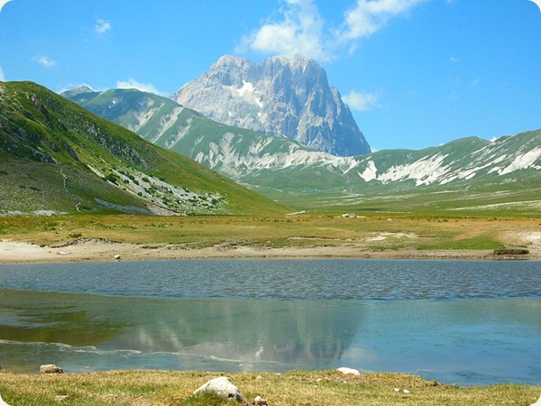
[[[539,217],[433,217],[339,213],[295,216],[0,217],[0,238],[61,245],[77,238],[133,244],[202,246],[365,245],[393,250],[495,250],[520,245],[517,233],[538,232]],[[515,236],[515,237],[514,237]]]

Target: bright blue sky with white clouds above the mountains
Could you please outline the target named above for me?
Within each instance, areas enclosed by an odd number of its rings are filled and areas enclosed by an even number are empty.
[[[224,54],[294,53],[326,69],[375,150],[541,128],[530,0],[12,0],[0,12],[0,80],[58,92],[169,95]]]

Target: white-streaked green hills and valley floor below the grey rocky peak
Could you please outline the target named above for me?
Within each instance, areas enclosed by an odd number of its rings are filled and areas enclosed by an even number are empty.
[[[287,138],[216,123],[136,89],[79,88],[64,96],[296,209],[539,213],[539,130],[492,141],[463,138],[418,151],[337,157]]]

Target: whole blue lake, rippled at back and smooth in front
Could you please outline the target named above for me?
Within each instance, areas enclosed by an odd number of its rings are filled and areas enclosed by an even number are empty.
[[[0,265],[0,364],[350,366],[541,384],[541,263],[201,260]]]

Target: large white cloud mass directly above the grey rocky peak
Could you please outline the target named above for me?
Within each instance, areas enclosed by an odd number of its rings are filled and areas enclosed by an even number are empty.
[[[241,51],[295,53],[316,60],[332,60],[344,47],[383,28],[391,18],[407,15],[428,0],[356,0],[344,10],[338,27],[329,27],[313,0],[280,0],[274,17],[243,37]]]

